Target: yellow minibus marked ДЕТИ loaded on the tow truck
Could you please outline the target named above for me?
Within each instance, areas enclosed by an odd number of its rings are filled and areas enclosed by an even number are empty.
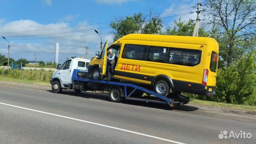
[[[115,54],[114,79],[150,85],[163,96],[215,95],[219,45],[213,38],[128,34],[96,52],[88,66],[92,79],[107,75],[109,49]]]

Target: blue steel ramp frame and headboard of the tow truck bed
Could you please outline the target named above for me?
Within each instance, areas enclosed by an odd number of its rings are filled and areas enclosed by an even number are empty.
[[[169,104],[171,107],[175,107],[179,103],[179,102],[174,102],[174,100],[171,99],[171,98],[161,96],[159,94],[156,94],[153,91],[150,91],[148,89],[145,89],[144,87],[140,87],[140,86],[137,86],[137,85],[134,85],[134,84],[124,83],[124,82],[105,81],[105,80],[92,80],[90,78],[80,78],[80,77],[77,76],[77,73],[79,71],[85,72],[84,70],[74,69],[73,74],[72,74],[72,78],[71,78],[72,80],[74,80],[74,81],[85,81],[85,82],[95,82],[95,83],[108,84],[108,85],[124,86],[124,94],[125,94],[125,97],[126,97],[127,100],[166,103],[166,104]],[[127,87],[134,88],[133,91],[130,92],[129,95],[127,95]],[[141,91],[146,92],[150,95],[156,96],[156,97],[158,97],[158,98],[160,98],[161,100],[164,100],[164,101],[130,97],[134,93],[135,90],[141,90]]]

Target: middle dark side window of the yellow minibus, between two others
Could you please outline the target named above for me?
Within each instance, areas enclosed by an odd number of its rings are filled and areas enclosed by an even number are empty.
[[[167,47],[149,46],[146,60],[150,62],[166,63],[167,52]]]

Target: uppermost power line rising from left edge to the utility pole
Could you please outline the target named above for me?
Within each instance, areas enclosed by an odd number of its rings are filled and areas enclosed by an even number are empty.
[[[191,8],[194,8],[194,6],[192,6],[192,7],[187,7],[187,8],[184,8],[184,9],[178,9],[178,10],[173,10],[173,11],[162,12],[162,13],[153,14],[153,15],[166,14],[166,13],[169,13],[169,12],[175,12],[175,11],[180,11],[180,10],[185,10],[185,9],[191,9]],[[147,16],[148,16],[148,15],[147,15]],[[145,16],[145,17],[146,17],[146,16]],[[99,25],[99,24],[110,23],[110,22],[115,22],[115,21],[100,22],[100,23],[92,23],[92,24],[87,24],[87,25],[71,26],[71,27],[62,27],[62,28],[50,28],[50,29],[43,29],[43,30],[17,31],[17,32],[1,32],[1,33],[20,33],[20,32],[35,32],[35,31],[58,30],[58,29],[64,29],[64,28],[73,28],[73,27],[82,27],[82,26]]]

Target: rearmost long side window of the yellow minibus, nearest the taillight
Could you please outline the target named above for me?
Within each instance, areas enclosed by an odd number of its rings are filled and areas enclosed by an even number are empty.
[[[201,50],[196,49],[183,49],[183,48],[170,48],[167,58],[167,63],[195,66],[200,63]]]

